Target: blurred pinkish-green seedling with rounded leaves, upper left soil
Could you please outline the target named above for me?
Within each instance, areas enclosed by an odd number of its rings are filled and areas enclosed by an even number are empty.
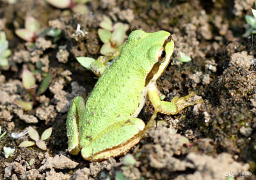
[[[31,16],[26,17],[25,28],[16,29],[15,33],[22,38],[22,40],[34,42],[40,33],[40,24],[35,18]]]

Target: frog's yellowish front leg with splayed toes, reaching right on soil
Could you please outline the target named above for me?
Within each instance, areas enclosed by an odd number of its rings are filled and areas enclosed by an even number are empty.
[[[157,112],[161,112],[163,114],[178,114],[180,110],[188,107],[190,105],[195,105],[196,103],[203,103],[204,100],[202,98],[191,98],[196,95],[195,92],[189,93],[187,96],[179,98],[179,96],[175,96],[172,101],[162,101],[159,96],[159,91],[157,89],[156,83],[152,83],[148,86],[148,98],[151,101],[154,107],[154,114],[151,117],[150,121],[147,124],[147,129],[154,126],[154,119],[156,118]]]

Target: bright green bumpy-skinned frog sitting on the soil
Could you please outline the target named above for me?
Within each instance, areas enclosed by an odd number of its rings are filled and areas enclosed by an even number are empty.
[[[160,100],[156,79],[169,60],[160,63],[163,66],[153,73],[154,77],[146,85],[148,74],[159,63],[159,50],[163,49],[169,36],[166,31],[133,31],[115,62],[105,68],[86,105],[82,97],[74,98],[67,117],[68,151],[71,154],[81,150],[85,160],[94,161],[118,156],[131,149],[145,135],[145,123],[136,117],[147,94],[155,109],[154,117],[157,112],[177,114],[188,105],[202,102],[186,103],[190,96],[176,97],[173,102]],[[173,46],[173,41],[166,45],[168,59],[173,53]],[[152,122],[147,127],[153,126]],[[122,148],[116,150],[116,147]]]

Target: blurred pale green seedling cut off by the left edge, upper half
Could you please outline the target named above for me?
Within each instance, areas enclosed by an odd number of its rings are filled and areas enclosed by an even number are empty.
[[[0,32],[0,67],[8,66],[7,57],[11,55],[11,50],[8,49],[8,41],[6,40],[6,34],[4,31]]]

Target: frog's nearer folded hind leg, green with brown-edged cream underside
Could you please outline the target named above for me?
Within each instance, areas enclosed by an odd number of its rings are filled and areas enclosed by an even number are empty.
[[[91,144],[81,149],[85,160],[98,161],[127,153],[145,135],[145,123],[132,118],[122,123],[113,124],[92,140]]]

